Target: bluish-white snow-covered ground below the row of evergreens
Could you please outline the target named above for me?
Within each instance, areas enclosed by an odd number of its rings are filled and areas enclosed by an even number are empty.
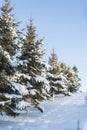
[[[42,103],[41,113],[35,108],[22,112],[18,117],[0,116],[0,130],[87,130],[86,93],[57,96]]]

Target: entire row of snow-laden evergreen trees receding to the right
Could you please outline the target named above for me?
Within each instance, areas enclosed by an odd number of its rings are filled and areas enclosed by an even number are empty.
[[[48,64],[42,61],[43,39],[37,38],[33,20],[22,38],[10,0],[4,0],[0,11],[0,113],[15,116],[16,109],[30,105],[43,112],[41,101],[76,92],[80,86],[77,67],[59,62],[54,50]]]

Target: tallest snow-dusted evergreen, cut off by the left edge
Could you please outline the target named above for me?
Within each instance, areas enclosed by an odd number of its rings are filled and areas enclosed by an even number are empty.
[[[13,110],[15,105],[13,100],[20,93],[17,86],[13,86],[11,78],[15,72],[12,58],[18,48],[19,32],[17,31],[18,23],[15,22],[14,15],[11,14],[12,10],[10,0],[4,0],[0,15],[0,101],[2,101],[0,102],[0,111],[16,115],[17,113]],[[11,101],[10,104],[8,99]]]

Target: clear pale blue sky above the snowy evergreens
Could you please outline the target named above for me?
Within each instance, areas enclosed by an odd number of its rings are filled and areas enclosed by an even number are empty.
[[[44,38],[44,59],[48,60],[54,48],[59,61],[77,66],[87,90],[87,1],[12,0],[12,5],[20,28],[26,28],[30,17],[34,19],[38,37]]]

